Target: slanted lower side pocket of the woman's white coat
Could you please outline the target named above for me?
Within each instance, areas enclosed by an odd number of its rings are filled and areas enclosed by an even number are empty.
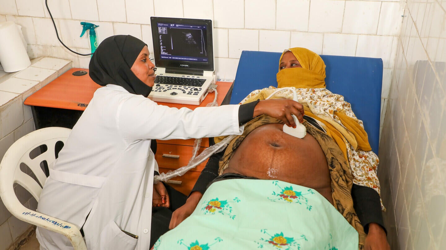
[[[125,234],[116,225],[116,223],[111,220],[108,222],[107,226],[101,232],[99,237],[98,245],[95,249],[98,250],[109,250],[109,249],[120,249],[120,250],[134,250],[136,247],[136,242],[138,240]]]

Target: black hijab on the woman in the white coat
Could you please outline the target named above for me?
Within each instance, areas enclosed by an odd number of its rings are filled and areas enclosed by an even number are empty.
[[[88,67],[91,79],[101,86],[119,85],[132,94],[148,97],[152,87],[139,80],[130,70],[145,45],[130,35],[107,37],[91,56]]]

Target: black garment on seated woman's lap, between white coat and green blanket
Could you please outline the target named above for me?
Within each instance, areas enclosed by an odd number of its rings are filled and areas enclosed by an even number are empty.
[[[161,235],[169,231],[172,213],[186,203],[187,196],[178,192],[173,187],[164,184],[169,194],[170,207],[152,208],[152,229],[150,230],[150,248],[157,242]]]

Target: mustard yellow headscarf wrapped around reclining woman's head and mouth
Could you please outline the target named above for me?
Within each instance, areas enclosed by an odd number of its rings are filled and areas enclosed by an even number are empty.
[[[325,64],[322,58],[307,48],[289,48],[285,50],[280,59],[286,52],[292,52],[301,64],[302,68],[282,69],[277,73],[277,88],[296,87],[296,88],[325,88]]]

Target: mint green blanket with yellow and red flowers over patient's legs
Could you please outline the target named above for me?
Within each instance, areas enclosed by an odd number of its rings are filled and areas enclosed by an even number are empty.
[[[153,250],[357,250],[358,233],[317,191],[284,181],[213,183]]]

